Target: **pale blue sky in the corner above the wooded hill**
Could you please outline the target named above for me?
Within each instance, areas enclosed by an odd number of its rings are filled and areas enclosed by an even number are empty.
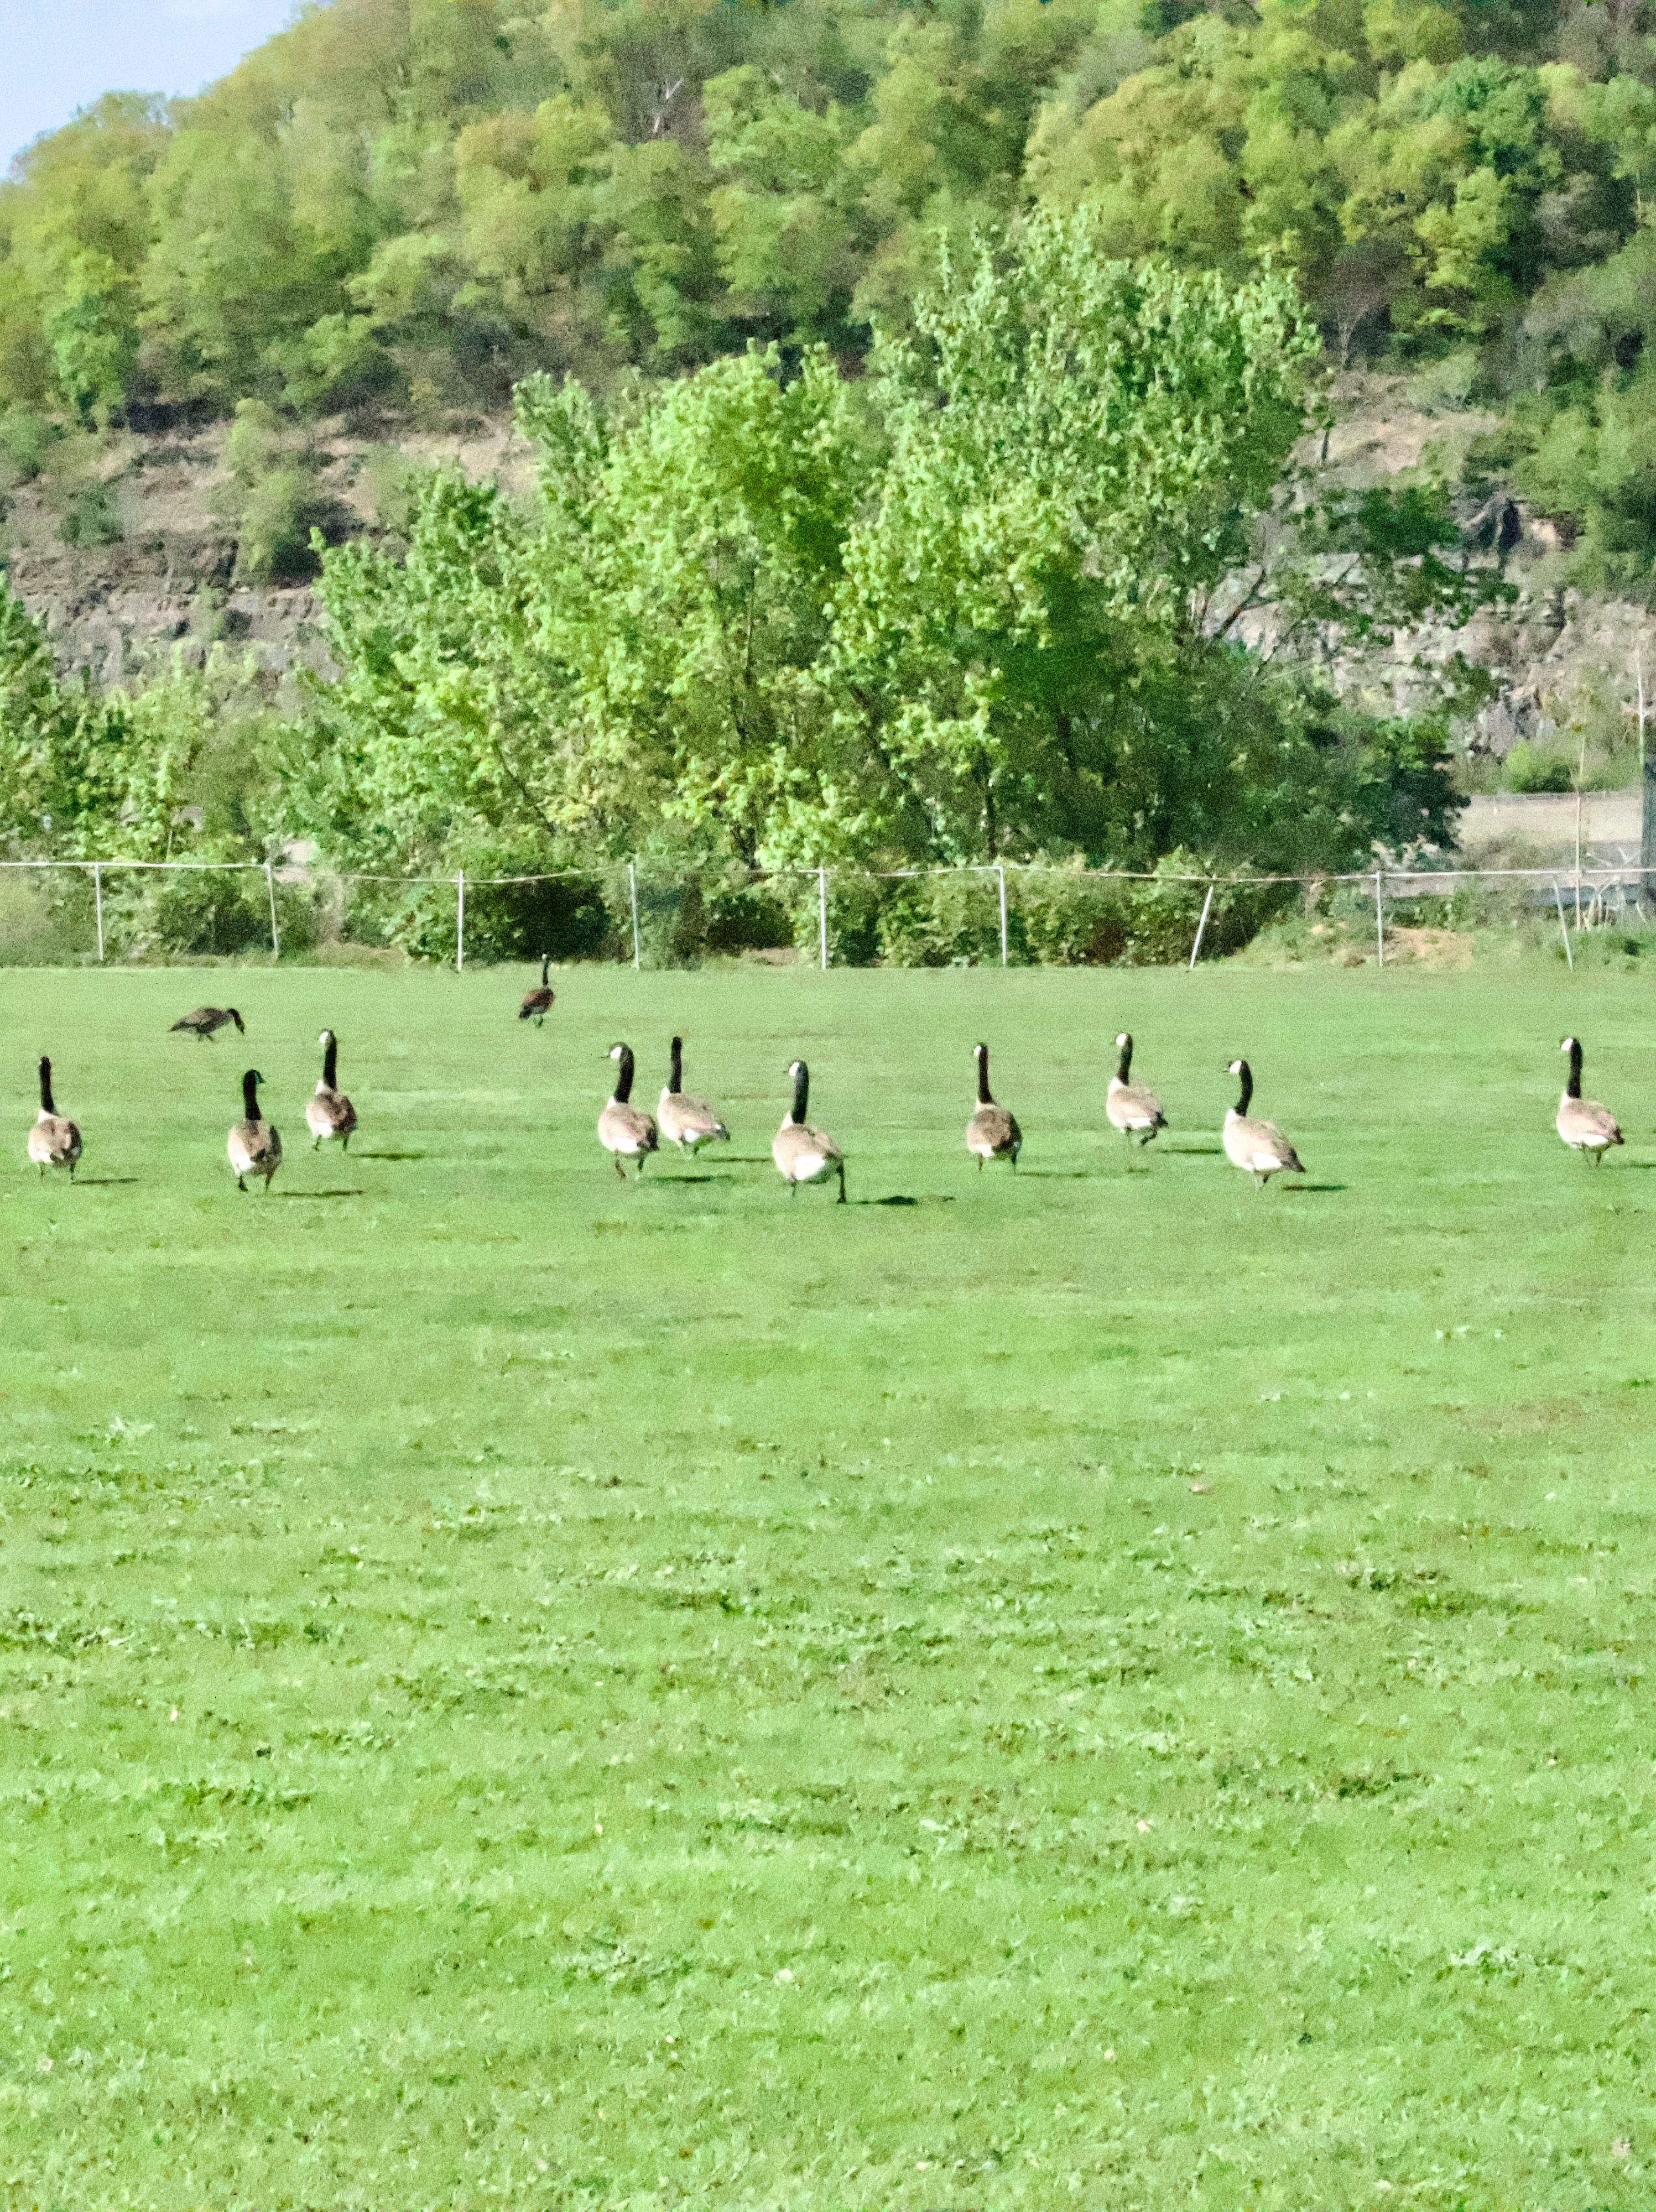
[[[0,170],[100,93],[199,93],[294,0],[0,0]]]

